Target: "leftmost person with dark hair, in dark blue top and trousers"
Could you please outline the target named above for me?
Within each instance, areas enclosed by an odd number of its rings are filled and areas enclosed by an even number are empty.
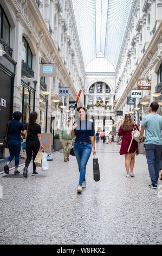
[[[24,125],[20,121],[22,119],[22,113],[19,111],[14,112],[13,114],[13,120],[9,121],[7,123],[7,127],[9,124],[9,129],[8,129],[8,148],[10,152],[10,156],[7,160],[7,164],[4,166],[4,172],[9,173],[9,165],[14,159],[15,156],[15,172],[14,174],[20,174],[18,172],[18,164],[20,161],[20,150],[21,150],[21,132],[24,131]]]

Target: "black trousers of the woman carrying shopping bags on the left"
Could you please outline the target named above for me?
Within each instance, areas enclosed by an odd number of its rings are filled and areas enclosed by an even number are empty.
[[[26,148],[26,153],[27,153],[27,160],[25,161],[25,167],[28,168],[29,163],[31,161],[32,153],[33,153],[33,172],[36,170],[36,165],[35,165],[35,157],[40,150],[40,142],[35,142],[35,141],[28,141],[27,142],[27,148]]]

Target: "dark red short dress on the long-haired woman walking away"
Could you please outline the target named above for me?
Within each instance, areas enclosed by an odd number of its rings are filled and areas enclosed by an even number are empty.
[[[137,127],[137,130],[139,131],[138,125],[135,124],[135,126]],[[134,127],[134,129],[135,129],[135,127]],[[139,154],[138,143],[137,143],[137,141],[134,141],[134,139],[132,141],[131,148],[129,149],[129,152],[128,152],[128,148],[129,148],[129,145],[131,143],[131,138],[132,138],[132,131],[125,132],[121,129],[121,125],[120,125],[118,136],[122,136],[121,148],[119,151],[120,155],[126,155],[128,153],[132,154],[135,152],[135,150],[137,150],[136,154],[137,155]]]

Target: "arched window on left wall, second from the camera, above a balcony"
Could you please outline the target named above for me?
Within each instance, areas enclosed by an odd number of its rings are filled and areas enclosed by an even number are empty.
[[[32,69],[33,54],[31,53],[29,44],[28,44],[27,40],[24,38],[24,36],[23,36],[23,41],[22,41],[22,59]]]

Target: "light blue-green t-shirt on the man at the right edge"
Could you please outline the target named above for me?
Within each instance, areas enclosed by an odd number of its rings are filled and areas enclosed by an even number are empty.
[[[162,117],[158,114],[148,114],[141,122],[145,126],[146,139],[145,144],[162,145],[161,129]]]

